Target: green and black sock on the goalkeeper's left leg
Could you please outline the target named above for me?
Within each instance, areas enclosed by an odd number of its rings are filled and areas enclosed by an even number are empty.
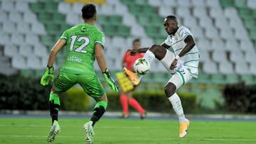
[[[60,109],[60,98],[58,94],[50,93],[49,99],[49,107],[50,107],[50,116],[53,121],[58,121],[58,111]]]

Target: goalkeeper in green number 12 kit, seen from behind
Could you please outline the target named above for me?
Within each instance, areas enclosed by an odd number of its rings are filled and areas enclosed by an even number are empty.
[[[46,72],[41,78],[41,84],[43,86],[53,81],[53,62],[57,53],[65,47],[65,63],[60,68],[58,77],[54,79],[50,92],[49,106],[52,126],[47,138],[48,142],[53,142],[55,135],[60,133],[60,126],[58,124],[58,111],[60,109],[59,94],[66,92],[74,84],[80,84],[82,89],[97,101],[92,118],[82,126],[85,131],[86,143],[93,143],[93,135],[95,135],[93,127],[107,109],[107,96],[95,74],[93,66],[95,57],[106,82],[115,92],[119,92],[119,88],[110,76],[103,55],[104,35],[94,26],[97,18],[96,7],[93,4],[86,4],[82,7],[81,11],[84,23],[64,31],[50,52]]]

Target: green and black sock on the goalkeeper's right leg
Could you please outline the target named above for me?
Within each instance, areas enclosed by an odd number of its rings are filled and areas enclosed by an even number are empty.
[[[92,121],[92,126],[95,125],[97,121],[100,120],[102,115],[105,113],[107,109],[107,102],[106,101],[98,101],[95,105],[95,108],[93,110],[92,118],[90,121]]]

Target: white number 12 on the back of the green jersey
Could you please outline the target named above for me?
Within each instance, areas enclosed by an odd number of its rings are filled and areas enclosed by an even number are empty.
[[[77,35],[72,35],[71,36],[71,44],[70,44],[70,51],[73,51],[73,48],[74,48],[74,45],[75,45],[75,42],[78,41],[78,42],[82,42],[82,40],[84,40],[84,42],[82,43],[82,45],[80,45],[78,48],[75,48],[75,52],[82,52],[82,53],[87,53],[86,50],[83,50],[83,48],[85,48],[89,43],[90,43],[90,39],[85,37],[85,36],[82,36],[80,38],[78,38]]]

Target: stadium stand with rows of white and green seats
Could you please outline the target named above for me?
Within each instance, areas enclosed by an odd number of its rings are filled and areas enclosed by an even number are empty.
[[[41,76],[50,49],[65,29],[82,22],[80,9],[88,2],[97,5],[96,25],[105,33],[112,70],[121,70],[122,55],[134,38],[141,38],[142,47],[161,44],[166,38],[164,17],[174,14],[191,29],[201,53],[201,71],[191,84],[256,83],[255,0],[1,0],[0,72]],[[64,55],[63,50],[57,69]],[[169,79],[161,63],[151,67],[144,82]],[[208,97],[215,93],[190,91]],[[203,96],[198,101],[208,101]]]

